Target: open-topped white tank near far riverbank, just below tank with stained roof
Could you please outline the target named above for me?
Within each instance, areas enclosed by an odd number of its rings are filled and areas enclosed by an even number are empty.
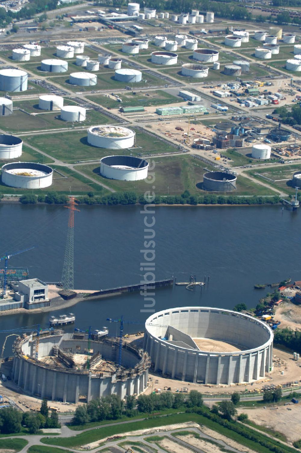
[[[119,181],[140,181],[148,176],[148,162],[134,156],[106,156],[100,159],[100,174]]]

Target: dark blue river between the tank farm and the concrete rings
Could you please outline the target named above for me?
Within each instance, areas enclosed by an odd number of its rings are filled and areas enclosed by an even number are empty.
[[[138,206],[80,207],[75,214],[74,281],[76,289],[105,289],[140,283],[144,249],[144,214]],[[177,277],[178,281],[210,276],[201,291],[185,287],[158,289],[155,310],[185,305],[233,308],[244,302],[258,303],[267,290],[256,283],[278,282],[287,277],[301,280],[301,212],[282,207],[213,206],[155,208],[155,276]],[[148,216],[150,222],[151,216]],[[26,266],[29,277],[47,282],[61,280],[67,236],[68,210],[61,206],[0,204],[0,253],[33,250],[10,259],[10,266]],[[143,330],[143,296],[139,293],[85,301],[57,314],[72,311],[76,327],[86,329],[116,325],[106,318],[122,314],[141,325],[125,323],[124,333]],[[49,315],[0,315],[0,330],[39,323],[48,326]],[[67,326],[71,331],[74,326]],[[0,333],[0,345],[5,334]],[[10,342],[8,342],[8,355]]]

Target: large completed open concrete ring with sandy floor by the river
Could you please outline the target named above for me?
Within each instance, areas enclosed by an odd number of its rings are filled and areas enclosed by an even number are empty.
[[[170,308],[145,323],[144,350],[153,371],[206,385],[264,378],[272,370],[272,342],[267,324],[221,308]]]

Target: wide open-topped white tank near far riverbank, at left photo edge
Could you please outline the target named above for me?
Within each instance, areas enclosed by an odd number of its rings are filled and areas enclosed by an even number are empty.
[[[14,162],[2,167],[2,183],[22,189],[40,189],[52,184],[53,169],[34,162]]]

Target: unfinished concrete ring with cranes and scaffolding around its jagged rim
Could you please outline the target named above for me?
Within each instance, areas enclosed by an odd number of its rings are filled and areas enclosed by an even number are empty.
[[[100,331],[101,333],[101,331]],[[118,366],[119,342],[92,331],[54,330],[24,336],[15,343],[12,379],[26,393],[64,403],[89,402],[107,395],[139,395],[148,384],[148,354],[123,345]],[[92,355],[88,361],[88,347]],[[38,358],[36,359],[36,351]],[[88,362],[87,362],[88,361]]]

